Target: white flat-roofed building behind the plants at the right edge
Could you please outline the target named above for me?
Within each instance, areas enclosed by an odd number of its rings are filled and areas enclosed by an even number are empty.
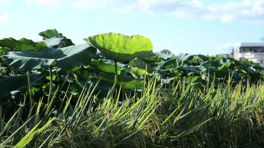
[[[235,43],[234,58],[248,59],[264,67],[264,43]]]

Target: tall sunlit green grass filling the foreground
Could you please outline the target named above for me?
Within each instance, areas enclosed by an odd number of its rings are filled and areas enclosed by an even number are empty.
[[[264,147],[263,82],[204,90],[184,83],[156,86],[155,80],[147,86],[142,94],[110,90],[101,101],[95,87],[78,100],[66,91],[60,107],[55,91],[26,117],[25,103],[9,119],[10,112],[0,110],[0,148]]]

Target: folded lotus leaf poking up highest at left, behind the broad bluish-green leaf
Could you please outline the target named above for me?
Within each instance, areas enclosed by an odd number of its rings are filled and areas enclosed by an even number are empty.
[[[59,33],[56,29],[49,29],[39,33],[43,37],[43,41],[51,48],[63,48],[74,45],[71,39],[68,39]]]

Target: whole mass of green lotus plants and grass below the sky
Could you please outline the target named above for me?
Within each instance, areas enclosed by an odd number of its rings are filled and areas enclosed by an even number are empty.
[[[140,35],[0,39],[0,148],[264,148],[264,68]]]

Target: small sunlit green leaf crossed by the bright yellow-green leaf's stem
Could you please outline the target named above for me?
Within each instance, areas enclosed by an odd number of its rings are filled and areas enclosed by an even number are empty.
[[[115,66],[112,63],[107,63],[102,59],[92,59],[91,65],[96,66],[101,71],[107,72],[107,73],[115,73]],[[122,70],[122,67],[117,65],[117,74],[120,74]]]

